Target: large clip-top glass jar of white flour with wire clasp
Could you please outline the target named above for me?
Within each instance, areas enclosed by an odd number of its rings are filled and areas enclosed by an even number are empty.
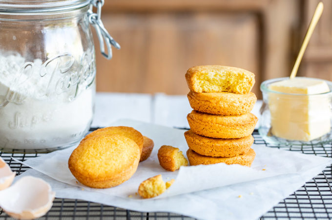
[[[111,44],[119,48],[100,20],[103,3],[0,0],[0,151],[58,150],[89,130],[96,75],[89,24],[106,58]]]

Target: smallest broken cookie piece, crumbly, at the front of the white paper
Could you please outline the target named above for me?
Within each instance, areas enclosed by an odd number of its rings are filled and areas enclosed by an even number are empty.
[[[144,180],[138,187],[138,194],[142,198],[153,198],[164,193],[166,184],[162,175],[157,175]]]

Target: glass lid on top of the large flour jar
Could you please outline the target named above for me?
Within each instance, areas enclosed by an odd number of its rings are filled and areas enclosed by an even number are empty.
[[[0,12],[35,13],[72,10],[90,4],[91,0],[0,0]]]

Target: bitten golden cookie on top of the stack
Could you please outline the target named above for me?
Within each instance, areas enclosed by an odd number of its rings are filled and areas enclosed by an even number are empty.
[[[247,94],[255,84],[255,74],[230,66],[194,66],[187,70],[186,80],[194,92]]]

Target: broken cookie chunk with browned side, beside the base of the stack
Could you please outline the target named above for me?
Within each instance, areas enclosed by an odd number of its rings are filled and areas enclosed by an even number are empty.
[[[186,157],[179,151],[179,148],[163,145],[158,151],[158,160],[160,166],[168,171],[176,171],[181,166],[187,166]]]

